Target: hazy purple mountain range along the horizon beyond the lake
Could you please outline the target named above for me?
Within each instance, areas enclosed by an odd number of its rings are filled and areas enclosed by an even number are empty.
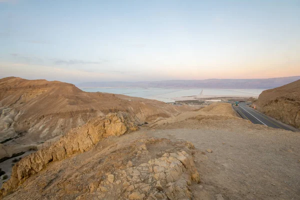
[[[300,76],[256,79],[205,79],[205,80],[161,80],[161,81],[103,81],[82,82],[78,87],[184,87],[184,88],[234,88],[269,89],[300,79]]]

